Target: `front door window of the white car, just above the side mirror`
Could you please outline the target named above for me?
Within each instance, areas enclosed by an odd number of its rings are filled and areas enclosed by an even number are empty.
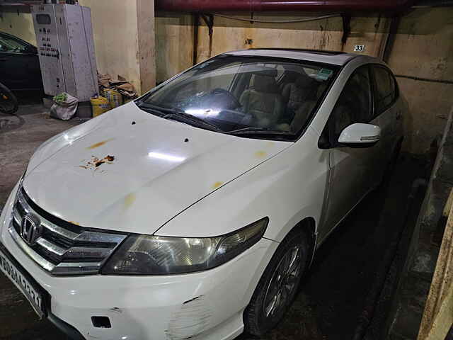
[[[372,120],[372,96],[369,67],[359,67],[350,76],[333,108],[329,126],[333,138],[338,140],[340,133],[354,123],[368,123]]]

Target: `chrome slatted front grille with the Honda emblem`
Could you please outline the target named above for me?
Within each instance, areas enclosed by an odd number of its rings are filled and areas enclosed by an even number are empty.
[[[32,244],[21,237],[21,224],[27,214],[40,220],[42,232]],[[18,246],[42,268],[55,276],[99,273],[127,234],[80,227],[50,215],[36,205],[21,188],[13,208],[9,228]]]

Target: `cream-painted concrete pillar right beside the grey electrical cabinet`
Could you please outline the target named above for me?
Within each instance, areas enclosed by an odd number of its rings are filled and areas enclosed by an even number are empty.
[[[138,94],[155,84],[154,3],[80,0],[91,8],[98,72],[131,81]]]

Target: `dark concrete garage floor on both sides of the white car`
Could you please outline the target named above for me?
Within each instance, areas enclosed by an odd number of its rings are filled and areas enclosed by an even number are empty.
[[[23,106],[16,128],[0,129],[0,207],[41,142],[76,121],[48,119],[41,106]],[[4,118],[0,116],[0,120]],[[20,126],[19,126],[20,125]],[[1,126],[1,125],[0,125]],[[316,254],[291,309],[266,340],[352,339],[386,245],[401,228],[411,183],[423,165],[401,157],[388,188],[372,192]],[[50,322],[39,321],[21,293],[0,275],[0,340],[61,340]],[[248,340],[241,335],[237,340]]]

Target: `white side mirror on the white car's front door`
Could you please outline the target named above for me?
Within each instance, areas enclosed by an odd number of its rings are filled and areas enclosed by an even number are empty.
[[[377,125],[355,123],[349,125],[338,137],[338,142],[356,147],[376,144],[381,138],[381,128]]]

